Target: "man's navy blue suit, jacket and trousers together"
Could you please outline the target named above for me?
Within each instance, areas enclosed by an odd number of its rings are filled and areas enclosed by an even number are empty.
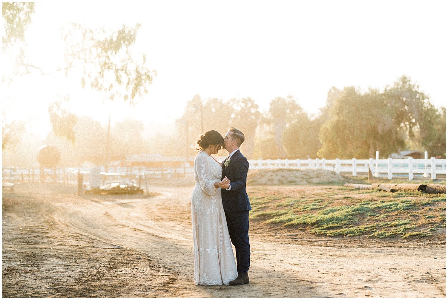
[[[249,197],[246,193],[249,162],[238,149],[230,158],[227,168],[222,162],[223,175],[230,180],[230,190],[221,189],[228,233],[237,254],[238,274],[247,273],[250,265],[249,245]],[[221,179],[222,179],[221,178]]]

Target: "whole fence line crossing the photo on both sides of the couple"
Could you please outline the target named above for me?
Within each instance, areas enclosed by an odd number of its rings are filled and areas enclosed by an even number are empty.
[[[436,179],[446,176],[446,159],[277,159],[277,160],[250,160],[249,169],[324,169],[336,173],[351,173],[353,176],[360,176],[370,171],[375,177],[403,177],[409,180],[414,177],[431,177]],[[116,167],[110,168],[109,173],[101,168],[102,181],[110,182],[118,180],[120,177],[134,177],[145,175],[146,178],[166,178],[166,177],[189,177],[193,176],[192,167],[183,168],[145,168],[145,167]],[[39,168],[15,168],[2,167],[3,186],[11,186],[19,182],[65,182],[70,184],[78,183],[78,173],[83,176],[85,183],[88,183],[90,173],[89,168],[65,168],[65,169],[39,169]],[[445,176],[443,176],[445,175]]]

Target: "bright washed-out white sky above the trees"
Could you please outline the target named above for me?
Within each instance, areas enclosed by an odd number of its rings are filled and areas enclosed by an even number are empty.
[[[146,53],[157,77],[138,106],[112,106],[112,123],[133,117],[147,126],[173,123],[195,94],[250,96],[262,110],[291,94],[317,113],[332,86],[383,88],[403,74],[446,106],[446,12],[442,1],[38,2],[26,40],[35,64],[51,71],[63,62],[60,27],[69,21],[140,22],[134,51]],[[62,74],[18,79],[4,111],[44,137],[56,93],[70,96],[76,114],[107,123],[101,95]]]

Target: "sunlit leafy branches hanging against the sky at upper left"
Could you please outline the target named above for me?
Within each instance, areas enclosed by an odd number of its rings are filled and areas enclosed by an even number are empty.
[[[137,59],[131,51],[140,24],[134,27],[123,25],[116,31],[88,29],[79,24],[64,28],[63,38],[67,44],[64,53],[66,64],[48,73],[26,58],[25,31],[32,21],[34,3],[3,3],[2,11],[3,52],[16,60],[13,74],[7,74],[10,81],[32,70],[41,75],[65,71],[65,76],[68,76],[74,67],[81,67],[83,75],[79,80],[83,87],[87,83],[92,89],[103,93],[107,99],[121,98],[134,105],[148,92],[148,86],[156,76],[155,71],[146,68],[146,55],[142,54],[140,59]],[[6,81],[8,76],[4,76],[2,82]],[[49,106],[52,126],[57,135],[67,134],[65,137],[72,140],[73,116],[69,107],[61,110],[61,106],[64,106],[61,99]],[[61,130],[62,128],[64,130]]]

